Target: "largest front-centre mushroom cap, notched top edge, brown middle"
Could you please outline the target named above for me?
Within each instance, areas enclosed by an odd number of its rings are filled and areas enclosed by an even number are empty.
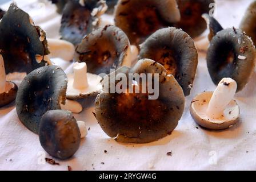
[[[108,89],[104,89],[105,91],[99,94],[95,101],[95,116],[103,131],[117,142],[123,143],[149,143],[171,134],[181,119],[185,105],[182,88],[175,78],[167,75],[166,69],[161,64],[149,59],[139,60],[132,69],[127,71],[127,67],[123,67],[118,70],[117,75],[115,72],[111,75],[116,76],[114,78],[117,80],[122,69],[124,71],[122,75],[126,76],[127,72],[133,75],[145,73],[147,76],[153,73],[154,76],[159,76],[159,82],[154,80],[155,77],[148,77],[146,93],[143,93],[141,88],[143,83],[137,83],[138,85],[126,83],[127,86],[137,88],[139,93],[126,92],[126,90],[124,93],[118,93],[117,90],[109,93]],[[105,79],[109,80],[109,77],[106,76]],[[151,81],[159,83],[159,90],[156,91],[159,91],[159,97],[156,100],[150,100]],[[114,86],[119,83],[120,81],[115,82]],[[157,85],[154,85],[157,88]]]

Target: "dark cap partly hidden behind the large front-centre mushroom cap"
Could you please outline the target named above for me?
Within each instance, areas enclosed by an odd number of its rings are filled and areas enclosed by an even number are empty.
[[[174,27],[162,28],[152,34],[142,45],[139,59],[152,59],[162,64],[167,74],[173,75],[185,96],[190,94],[198,53],[193,39],[186,32]]]

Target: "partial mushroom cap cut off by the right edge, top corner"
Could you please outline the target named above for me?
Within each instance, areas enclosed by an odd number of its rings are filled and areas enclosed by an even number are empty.
[[[256,44],[256,1],[253,1],[246,10],[245,16],[240,24],[240,29],[253,39]]]

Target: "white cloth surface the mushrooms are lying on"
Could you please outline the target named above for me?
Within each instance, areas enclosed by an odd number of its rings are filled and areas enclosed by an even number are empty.
[[[35,24],[47,32],[47,37],[58,38],[61,16],[46,1],[17,1]],[[217,19],[223,27],[238,27],[250,0],[217,0]],[[2,6],[7,9],[8,5]],[[45,7],[47,7],[45,9]],[[0,35],[1,38],[1,35]],[[17,117],[14,104],[0,109],[0,169],[2,170],[245,170],[256,169],[256,74],[246,88],[235,97],[241,108],[241,121],[229,130],[207,131],[196,124],[189,113],[193,97],[204,90],[214,90],[206,68],[206,54],[199,53],[197,77],[178,127],[169,137],[149,144],[124,145],[107,137],[97,124],[92,112],[93,101],[78,120],[90,127],[86,139],[74,157],[58,161],[61,166],[43,164],[43,148],[38,136],[27,130]],[[69,66],[55,61],[63,69]],[[104,150],[107,150],[105,154]],[[172,156],[166,153],[172,151]],[[50,157],[46,154],[46,157]],[[216,160],[214,160],[216,159]],[[101,164],[101,163],[105,164]],[[214,164],[215,163],[215,164]]]

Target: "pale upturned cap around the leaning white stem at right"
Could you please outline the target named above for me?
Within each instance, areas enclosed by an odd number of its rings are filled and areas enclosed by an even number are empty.
[[[230,102],[219,119],[207,117],[206,110],[213,92],[203,92],[194,98],[190,106],[190,113],[198,125],[210,130],[223,130],[235,125],[239,118],[239,106],[234,100]]]

